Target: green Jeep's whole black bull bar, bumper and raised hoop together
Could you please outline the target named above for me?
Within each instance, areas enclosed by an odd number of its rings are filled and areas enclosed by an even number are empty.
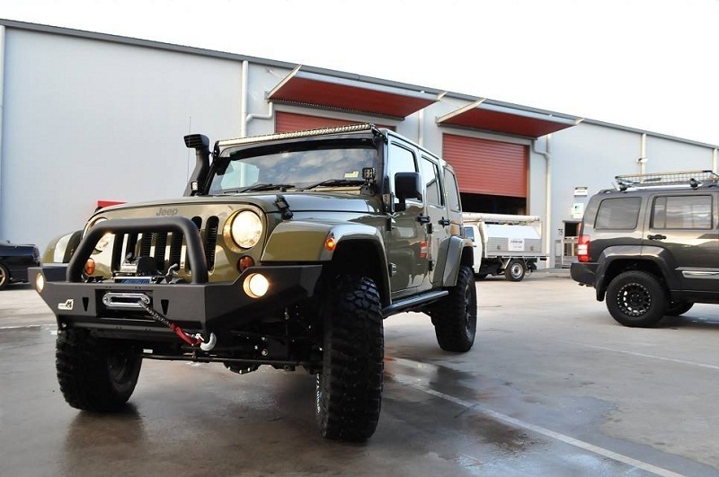
[[[104,234],[173,232],[184,235],[190,283],[85,282],[84,265]],[[102,302],[107,294],[146,296],[150,307],[173,321],[197,323],[208,330],[214,324],[253,322],[273,311],[313,296],[322,272],[321,264],[251,267],[233,282],[209,282],[207,261],[197,225],[186,217],[112,219],[94,225],[85,234],[67,265],[30,269],[31,283],[44,278],[40,296],[58,317],[58,325],[106,328],[113,331],[150,331],[147,323],[125,320]],[[270,282],[267,293],[255,298],[244,292],[244,280],[261,273]],[[155,330],[156,331],[156,330]],[[155,333],[153,333],[155,334]]]

